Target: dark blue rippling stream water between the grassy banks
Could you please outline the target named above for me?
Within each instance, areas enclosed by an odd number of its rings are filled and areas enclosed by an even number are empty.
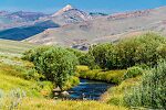
[[[87,100],[98,100],[101,95],[112,86],[114,85],[89,79],[80,79],[80,85],[69,90],[70,99],[84,98]]]

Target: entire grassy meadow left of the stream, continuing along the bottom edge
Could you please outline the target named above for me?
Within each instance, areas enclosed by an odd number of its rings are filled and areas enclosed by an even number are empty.
[[[97,101],[61,101],[48,99],[52,90],[49,81],[37,81],[31,77],[33,64],[22,61],[22,53],[35,45],[15,41],[0,40],[0,109],[9,110],[126,110]],[[30,74],[30,75],[29,75]],[[38,75],[37,75],[38,77]],[[22,98],[12,92],[25,95]],[[14,102],[19,105],[14,107]]]

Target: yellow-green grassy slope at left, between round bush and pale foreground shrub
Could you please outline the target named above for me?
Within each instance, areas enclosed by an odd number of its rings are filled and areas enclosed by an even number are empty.
[[[50,94],[52,84],[37,81],[34,79],[28,80],[25,76],[29,69],[23,66],[19,67],[0,63],[0,89],[9,92],[12,89],[19,88],[24,90],[29,97],[43,97],[43,91]]]

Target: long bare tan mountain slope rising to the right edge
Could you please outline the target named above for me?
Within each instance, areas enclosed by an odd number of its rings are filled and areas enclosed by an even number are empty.
[[[166,33],[166,7],[101,16],[82,23],[49,29],[27,41],[39,44],[91,45],[115,42],[131,33],[157,31]]]

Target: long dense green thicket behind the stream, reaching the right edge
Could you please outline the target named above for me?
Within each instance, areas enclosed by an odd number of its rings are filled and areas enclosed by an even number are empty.
[[[147,33],[137,37],[122,40],[115,44],[97,44],[90,47],[89,55],[103,69],[126,69],[145,64],[156,66],[160,58],[166,58],[166,38]]]

